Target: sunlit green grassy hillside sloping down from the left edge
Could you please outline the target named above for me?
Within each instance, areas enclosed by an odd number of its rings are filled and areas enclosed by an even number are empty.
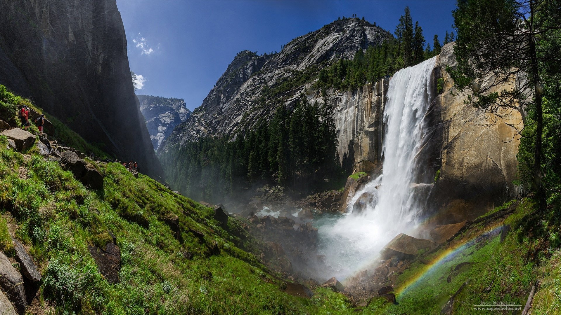
[[[318,289],[293,297],[261,265],[261,243],[229,219],[122,165],[99,164],[104,187],[90,191],[51,161],[0,149],[0,206],[15,237],[29,245],[43,275],[41,300],[57,314],[335,314],[341,294]],[[17,169],[26,170],[26,179]],[[177,218],[180,235],[171,219]],[[0,245],[8,225],[0,219]],[[202,233],[197,237],[194,232]],[[120,282],[99,274],[88,246],[116,236]],[[6,241],[6,242],[4,242]],[[4,242],[4,243],[3,243]],[[325,306],[324,306],[325,305]],[[341,312],[339,312],[341,311]]]

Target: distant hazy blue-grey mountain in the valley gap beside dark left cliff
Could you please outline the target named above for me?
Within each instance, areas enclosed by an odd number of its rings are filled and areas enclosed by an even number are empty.
[[[137,98],[140,101],[140,112],[146,120],[154,150],[158,150],[162,141],[171,135],[177,124],[191,116],[191,110],[185,107],[183,99],[152,95],[137,95]]]

